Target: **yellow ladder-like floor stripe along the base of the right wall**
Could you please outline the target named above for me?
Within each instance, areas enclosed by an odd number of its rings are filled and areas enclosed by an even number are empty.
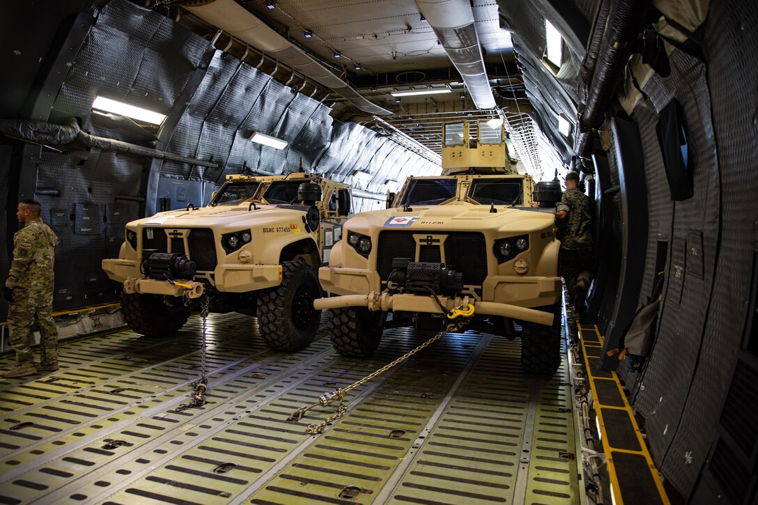
[[[584,366],[587,369],[587,381],[589,382],[590,388],[592,390],[592,395],[595,402],[595,412],[597,415],[598,425],[600,426],[600,436],[602,438],[603,451],[606,454],[606,461],[608,463],[608,473],[611,481],[611,492],[613,494],[616,505],[622,505],[622,503],[624,503],[624,500],[622,498],[622,490],[621,486],[619,485],[619,476],[615,463],[613,461],[612,453],[625,453],[643,456],[647,462],[648,468],[650,469],[650,474],[652,475],[653,481],[655,482],[661,502],[665,505],[670,505],[671,502],[669,500],[669,497],[666,495],[666,491],[663,489],[663,483],[658,475],[658,469],[656,469],[656,466],[653,463],[653,458],[650,456],[650,452],[647,450],[647,445],[642,438],[640,427],[637,425],[637,420],[634,419],[634,412],[632,412],[631,406],[629,406],[626,395],[622,389],[621,382],[619,381],[619,376],[615,372],[610,372],[611,378],[598,377],[594,373],[596,371],[590,366],[589,359],[587,358],[587,348],[598,347],[597,342],[594,341],[596,338],[600,341],[600,346],[602,346],[603,335],[600,334],[600,331],[596,325],[578,325],[578,331],[584,355]],[[590,341],[587,342],[585,339],[589,339]],[[600,403],[600,397],[595,387],[595,381],[614,381],[616,387],[619,390],[619,397],[623,402],[623,406],[604,405]],[[634,429],[634,434],[637,437],[637,442],[639,443],[641,450],[630,450],[621,447],[612,447],[609,444],[608,431],[609,428],[612,427],[609,426],[606,428],[605,420],[603,419],[603,409],[614,409],[616,411],[625,411],[627,413],[628,419],[631,422],[632,428]],[[634,504],[630,503],[629,505]]]

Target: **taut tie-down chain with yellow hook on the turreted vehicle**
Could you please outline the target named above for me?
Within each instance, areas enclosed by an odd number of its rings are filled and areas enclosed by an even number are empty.
[[[439,340],[443,335],[449,333],[450,331],[458,331],[459,329],[465,327],[465,325],[468,324],[468,318],[471,317],[471,315],[474,315],[474,306],[470,303],[468,304],[468,309],[462,310],[460,308],[453,309],[451,311],[445,312],[446,317],[450,320],[448,325],[443,331],[440,331],[440,333],[434,335],[434,337],[431,337],[429,340],[427,340],[424,343],[421,343],[420,346],[416,347],[413,350],[410,350],[409,352],[403,354],[399,358],[395,359],[393,362],[390,362],[387,365],[384,365],[381,369],[378,369],[375,372],[372,372],[369,375],[366,375],[364,378],[359,379],[358,381],[353,382],[347,387],[337,387],[337,389],[334,389],[332,391],[328,391],[327,393],[322,394],[320,397],[318,397],[318,401],[315,403],[311,403],[308,406],[302,406],[299,409],[296,409],[295,412],[293,412],[290,417],[287,418],[287,421],[289,422],[298,422],[300,419],[302,419],[303,416],[305,416],[305,412],[308,412],[310,409],[313,409],[316,406],[327,406],[331,403],[334,403],[335,401],[339,401],[340,405],[337,406],[337,412],[334,413],[334,415],[327,417],[327,419],[324,419],[323,422],[320,424],[312,424],[309,425],[308,428],[305,428],[305,432],[308,434],[321,434],[324,432],[324,428],[329,425],[330,422],[336,421],[337,419],[340,419],[342,416],[345,415],[345,412],[347,412],[347,405],[345,403],[345,396],[346,394],[355,389],[356,387],[359,387],[362,384],[365,384],[365,382],[371,381],[372,378],[377,377],[378,375],[383,374],[384,372],[387,372],[387,370],[391,369],[393,366],[405,361],[406,359],[413,356],[415,353],[418,353],[418,351],[429,347],[432,343]],[[453,322],[453,319],[457,319],[457,321]]]

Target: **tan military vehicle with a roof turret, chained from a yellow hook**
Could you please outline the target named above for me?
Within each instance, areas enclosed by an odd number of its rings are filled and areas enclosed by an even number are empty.
[[[318,271],[336,296],[315,307],[330,309],[339,353],[368,356],[384,328],[441,331],[446,312],[471,305],[473,328],[510,338],[522,328],[522,365],[552,373],[562,328],[554,209],[531,208],[534,183],[513,170],[502,121],[479,121],[471,145],[468,123],[443,131],[443,174],[409,177],[387,210],[346,222]]]

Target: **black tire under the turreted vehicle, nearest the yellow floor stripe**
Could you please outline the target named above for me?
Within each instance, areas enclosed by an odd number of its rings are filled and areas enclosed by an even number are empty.
[[[522,368],[527,372],[553,375],[561,364],[561,304],[537,307],[555,314],[552,326],[522,322]]]

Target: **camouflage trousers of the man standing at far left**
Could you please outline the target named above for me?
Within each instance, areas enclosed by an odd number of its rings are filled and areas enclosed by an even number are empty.
[[[33,362],[30,326],[39,326],[39,362],[52,365],[58,362],[58,330],[52,318],[52,296],[30,296],[30,290],[16,287],[14,302],[8,305],[8,330],[11,347],[19,363]]]

